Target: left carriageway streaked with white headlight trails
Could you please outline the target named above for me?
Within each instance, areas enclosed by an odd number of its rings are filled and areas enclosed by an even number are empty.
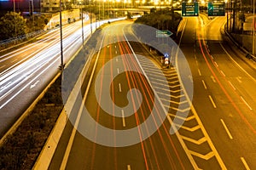
[[[92,23],[92,30],[107,21]],[[82,47],[81,20],[63,26],[63,59],[67,63]],[[90,20],[84,17],[84,40],[90,36]],[[21,48],[0,56],[0,136],[9,130],[59,72],[60,29],[36,37]]]

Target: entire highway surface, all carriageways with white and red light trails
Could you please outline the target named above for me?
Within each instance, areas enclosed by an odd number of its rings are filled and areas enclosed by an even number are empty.
[[[63,97],[69,119],[49,169],[256,169],[256,65],[223,35],[225,20],[184,17],[169,68],[131,21],[102,28],[86,75]],[[67,63],[81,49],[81,22],[63,32]],[[1,54],[0,134],[57,74],[59,42],[54,30]]]

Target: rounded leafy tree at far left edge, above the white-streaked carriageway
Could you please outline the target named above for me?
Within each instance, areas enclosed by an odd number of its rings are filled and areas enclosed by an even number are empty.
[[[0,19],[0,39],[26,35],[26,19],[20,13],[8,12]]]

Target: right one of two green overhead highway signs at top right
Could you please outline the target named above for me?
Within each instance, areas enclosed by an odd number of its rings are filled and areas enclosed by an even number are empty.
[[[208,16],[224,16],[225,3],[208,3]]]

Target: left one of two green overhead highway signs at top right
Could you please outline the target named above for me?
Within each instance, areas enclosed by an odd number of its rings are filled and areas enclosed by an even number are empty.
[[[182,16],[198,16],[198,2],[194,3],[182,3]]]

